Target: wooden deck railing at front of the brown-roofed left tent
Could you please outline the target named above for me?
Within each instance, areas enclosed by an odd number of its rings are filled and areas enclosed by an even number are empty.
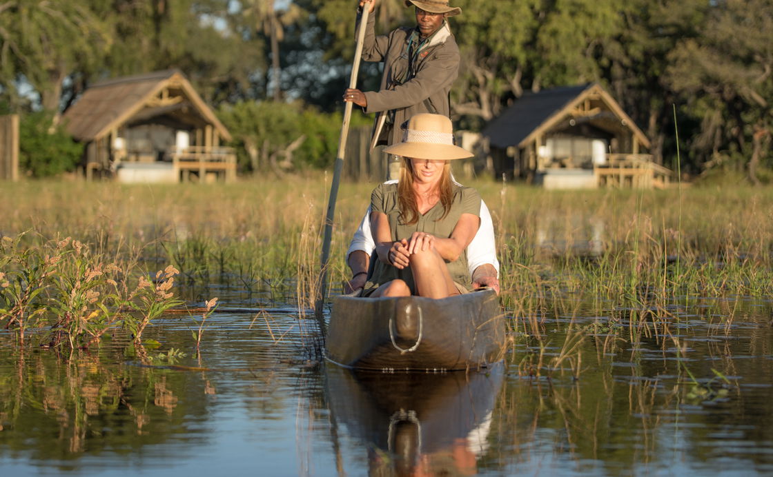
[[[192,172],[199,175],[199,181],[205,181],[209,173],[222,174],[226,182],[236,178],[237,155],[233,147],[191,146],[172,149],[169,157],[183,180],[189,179]]]

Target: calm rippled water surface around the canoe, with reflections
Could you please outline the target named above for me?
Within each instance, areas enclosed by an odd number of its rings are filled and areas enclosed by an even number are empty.
[[[200,357],[188,319],[155,323],[144,352],[186,353],[171,366],[118,340],[20,357],[5,335],[0,474],[770,475],[771,309],[692,300],[638,342],[627,310],[546,316],[540,376],[520,337],[485,374],[352,374],[284,309],[214,314]],[[551,371],[573,327],[581,361]]]

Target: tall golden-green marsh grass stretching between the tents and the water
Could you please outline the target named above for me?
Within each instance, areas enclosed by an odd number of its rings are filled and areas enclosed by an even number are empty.
[[[147,269],[169,263],[179,269],[179,286],[226,283],[246,293],[267,293],[273,303],[297,307],[299,326],[311,323],[306,315],[318,290],[328,194],[320,175],[227,186],[3,185],[0,235],[29,230],[19,246],[71,236],[113,261],[129,260],[131,251],[139,250],[135,260]],[[332,284],[348,278],[343,255],[374,185],[342,184],[339,191]],[[586,316],[605,317],[598,326],[610,327],[615,339],[637,342],[680,320],[675,303],[773,294],[769,189],[544,191],[487,181],[472,185],[494,218],[500,298],[512,316],[512,336],[536,340],[535,350],[547,349],[546,320],[573,316],[575,303],[583,303]],[[727,311],[720,323],[726,333],[733,320]],[[318,330],[304,333],[313,342]],[[557,357],[576,374],[580,358],[568,351],[577,349],[581,335],[594,339],[597,331],[573,333]],[[548,356],[534,363],[546,374],[561,369]]]

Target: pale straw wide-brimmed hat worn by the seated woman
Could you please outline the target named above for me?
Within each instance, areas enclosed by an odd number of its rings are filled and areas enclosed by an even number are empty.
[[[384,152],[414,159],[451,161],[472,157],[466,149],[454,145],[454,127],[442,114],[420,113],[410,117],[403,141],[385,147]]]

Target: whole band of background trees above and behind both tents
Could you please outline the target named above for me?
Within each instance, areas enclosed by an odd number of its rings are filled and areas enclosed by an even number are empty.
[[[524,91],[599,82],[645,130],[659,163],[673,166],[678,127],[690,171],[745,167],[754,182],[758,167],[773,165],[773,0],[452,3],[463,10],[449,19],[462,55],[452,91],[460,127],[482,127]],[[355,0],[5,0],[0,102],[16,112],[48,110],[56,122],[98,80],[178,68],[236,123],[245,112],[247,119],[266,117],[274,103],[276,124],[286,129],[309,108],[340,110],[356,6]],[[379,0],[376,21],[387,32],[415,20],[403,0]],[[379,76],[379,66],[363,64],[359,83],[374,89]],[[267,104],[250,112],[248,103]],[[243,127],[252,132],[242,139],[260,129]],[[264,156],[247,161],[255,157]]]

